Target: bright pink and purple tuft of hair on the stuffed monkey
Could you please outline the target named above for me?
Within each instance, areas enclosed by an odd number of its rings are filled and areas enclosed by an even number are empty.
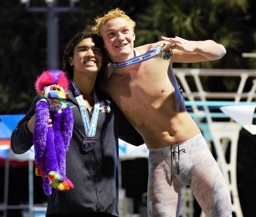
[[[35,88],[39,93],[45,86],[60,85],[66,91],[69,87],[69,79],[66,73],[61,70],[44,71],[36,80]]]

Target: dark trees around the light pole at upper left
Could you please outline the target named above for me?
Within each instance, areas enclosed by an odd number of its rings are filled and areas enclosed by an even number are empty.
[[[68,6],[68,0],[58,1]],[[129,16],[141,13],[146,0],[79,1],[72,13],[60,13],[59,68],[69,39],[105,11],[120,7]],[[30,0],[30,6],[46,6],[44,0]],[[138,7],[137,7],[138,6]],[[34,82],[46,66],[46,14],[31,13],[19,0],[2,1],[0,8],[0,114],[25,113],[36,95]]]

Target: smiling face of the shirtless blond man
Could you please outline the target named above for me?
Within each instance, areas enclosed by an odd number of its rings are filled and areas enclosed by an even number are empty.
[[[101,35],[113,62],[123,62],[134,57],[134,31],[126,19],[109,20],[101,29]]]

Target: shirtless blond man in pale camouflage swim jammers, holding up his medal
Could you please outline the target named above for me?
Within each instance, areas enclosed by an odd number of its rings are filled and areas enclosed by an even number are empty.
[[[134,49],[135,22],[123,11],[109,11],[96,23],[94,30],[103,38],[113,62],[106,92],[149,149],[148,215],[179,216],[182,188],[190,185],[207,217],[232,216],[223,175],[186,111],[172,70],[174,62],[219,59],[225,48],[211,40],[162,37],[164,41]],[[150,49],[161,49],[164,43],[163,51],[172,49],[171,59],[148,58]]]

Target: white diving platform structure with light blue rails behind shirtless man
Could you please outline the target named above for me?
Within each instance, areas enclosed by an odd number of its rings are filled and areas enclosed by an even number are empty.
[[[216,111],[222,106],[256,105],[256,70],[174,68],[174,73],[184,91],[185,105],[189,114],[202,131],[210,150],[211,145],[214,146],[216,161],[230,191],[232,212],[237,217],[243,217],[236,172],[238,139],[242,126],[232,120],[229,115],[221,111],[212,112],[212,110]],[[202,85],[206,77],[207,79],[227,77],[227,82],[235,84],[237,91],[207,92]],[[196,90],[191,90],[191,82],[194,82],[192,86],[195,86]],[[250,90],[245,92],[245,86],[247,90]],[[254,114],[253,118],[255,117]],[[227,154],[229,154],[228,157]],[[193,201],[194,197],[190,188],[184,188],[180,216],[193,216]],[[203,211],[200,217],[205,217]]]

